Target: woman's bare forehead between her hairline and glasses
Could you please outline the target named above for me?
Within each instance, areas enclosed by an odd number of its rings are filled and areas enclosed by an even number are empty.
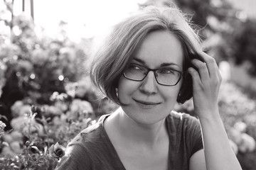
[[[133,60],[147,64],[149,67],[177,65],[182,67],[183,48],[180,40],[169,31],[155,31],[146,35],[137,47]]]

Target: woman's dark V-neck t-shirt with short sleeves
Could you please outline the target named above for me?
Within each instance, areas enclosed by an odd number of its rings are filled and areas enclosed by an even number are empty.
[[[68,144],[56,170],[125,170],[103,126],[108,116],[102,115]],[[188,169],[192,154],[203,149],[198,119],[173,111],[166,117],[166,126],[170,141],[168,169]]]

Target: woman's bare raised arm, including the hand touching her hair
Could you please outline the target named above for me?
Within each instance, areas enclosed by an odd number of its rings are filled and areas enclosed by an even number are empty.
[[[205,154],[206,169],[241,169],[238,159],[230,147],[228,135],[225,132],[223,122],[218,112],[218,92],[221,76],[218,66],[213,59],[201,52],[200,60],[192,60],[192,67],[188,69],[193,79],[193,104],[195,112],[201,123],[203,133],[204,153],[196,152],[191,157],[191,169],[195,162],[201,162],[203,166],[203,154]],[[197,169],[203,167],[197,167]],[[205,167],[204,167],[205,168]]]

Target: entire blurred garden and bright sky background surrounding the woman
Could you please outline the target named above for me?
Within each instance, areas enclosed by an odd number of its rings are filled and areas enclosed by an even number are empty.
[[[92,40],[139,8],[171,3],[218,62],[230,144],[242,169],[255,169],[255,0],[0,0],[0,168],[54,169],[56,143],[117,108],[87,76]],[[192,100],[176,110],[195,115]]]

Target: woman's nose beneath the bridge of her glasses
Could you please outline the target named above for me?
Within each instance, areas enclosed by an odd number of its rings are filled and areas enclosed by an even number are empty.
[[[157,93],[157,81],[154,76],[154,72],[149,72],[144,80],[142,81],[141,86],[139,86],[139,90],[142,93],[151,95]]]

